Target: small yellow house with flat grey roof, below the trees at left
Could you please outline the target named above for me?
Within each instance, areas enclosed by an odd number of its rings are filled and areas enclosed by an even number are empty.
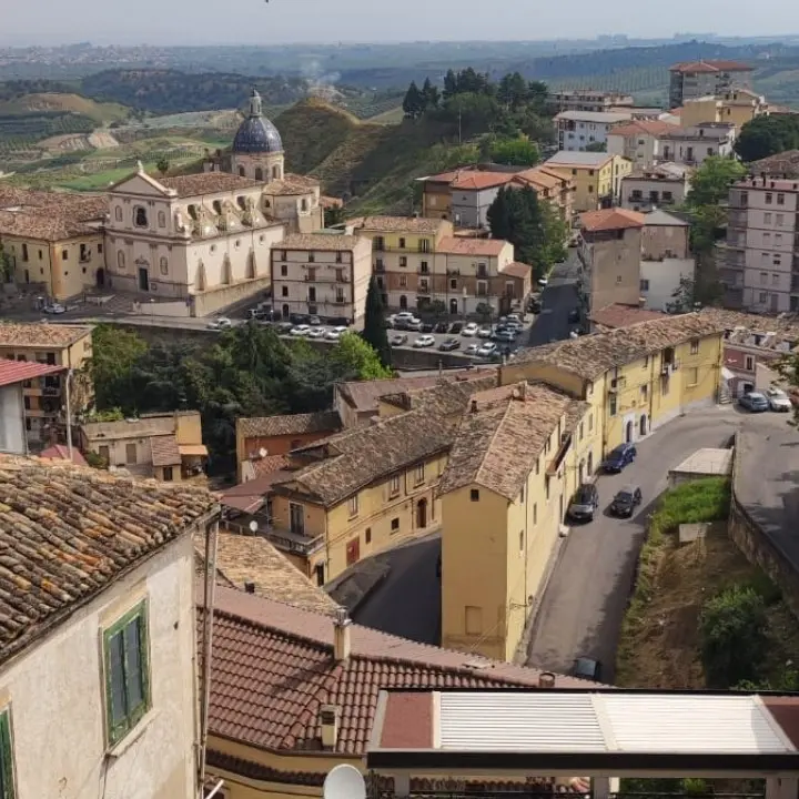
[[[81,448],[110,468],[163,483],[204,483],[208,447],[199,411],[144,414],[120,422],[85,422]]]

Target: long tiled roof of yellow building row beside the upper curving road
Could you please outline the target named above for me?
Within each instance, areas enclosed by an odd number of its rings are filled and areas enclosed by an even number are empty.
[[[665,347],[721,331],[724,325],[700,313],[666,314],[663,318],[639,322],[608,333],[522,350],[516,354],[514,364],[553,364],[564,372],[594,380],[610,368],[624,366]]]

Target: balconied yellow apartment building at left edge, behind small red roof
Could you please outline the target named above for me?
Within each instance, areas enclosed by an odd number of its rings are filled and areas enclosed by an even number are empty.
[[[73,424],[93,403],[94,388],[88,370],[91,356],[91,327],[0,323],[0,358],[62,366],[65,372],[23,384],[26,433],[31,452],[39,452],[57,439],[64,441],[68,381]]]

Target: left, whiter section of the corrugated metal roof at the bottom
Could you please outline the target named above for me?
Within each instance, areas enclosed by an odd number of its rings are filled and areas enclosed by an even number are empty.
[[[590,694],[441,695],[441,748],[606,751]]]

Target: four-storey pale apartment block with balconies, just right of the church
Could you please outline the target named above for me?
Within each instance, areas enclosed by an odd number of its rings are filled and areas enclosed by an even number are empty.
[[[372,241],[301,233],[271,251],[272,297],[283,318],[307,314],[363,327],[372,279]]]

